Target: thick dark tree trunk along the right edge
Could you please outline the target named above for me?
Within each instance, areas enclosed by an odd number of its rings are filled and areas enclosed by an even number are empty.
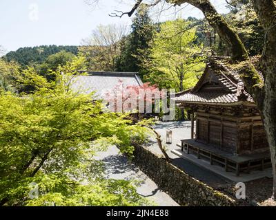
[[[265,77],[262,111],[273,166],[273,197],[276,199],[276,6],[273,0],[251,0],[266,32],[260,68]]]

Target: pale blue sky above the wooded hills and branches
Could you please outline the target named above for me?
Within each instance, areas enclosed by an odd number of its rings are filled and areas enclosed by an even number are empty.
[[[127,16],[119,19],[109,17],[108,13],[128,11],[134,0],[100,2],[95,8],[84,0],[1,0],[0,45],[7,51],[36,45],[79,45],[99,24],[131,23]],[[213,0],[213,3],[219,12],[227,12],[224,0]],[[164,21],[173,19],[174,12],[174,9],[168,10],[160,18],[159,13],[152,12],[152,15],[156,21]],[[202,14],[189,5],[181,10],[181,16],[202,17]]]

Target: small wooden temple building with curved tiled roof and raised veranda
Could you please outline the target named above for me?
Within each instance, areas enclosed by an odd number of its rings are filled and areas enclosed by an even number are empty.
[[[270,166],[262,118],[239,75],[226,61],[210,58],[197,85],[176,94],[177,106],[188,109],[193,121],[191,138],[181,140],[181,150],[236,175],[262,170]]]

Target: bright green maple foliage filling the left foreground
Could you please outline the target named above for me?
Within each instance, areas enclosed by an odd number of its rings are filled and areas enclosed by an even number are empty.
[[[0,94],[0,203],[17,206],[130,206],[146,203],[132,183],[104,179],[95,152],[112,144],[131,155],[146,129],[127,115],[102,111],[92,94],[70,89],[85,58],[57,67],[48,81],[29,67],[19,80],[28,96]],[[61,74],[61,72],[63,74]],[[143,122],[144,123],[144,122]],[[39,186],[30,199],[29,184]]]

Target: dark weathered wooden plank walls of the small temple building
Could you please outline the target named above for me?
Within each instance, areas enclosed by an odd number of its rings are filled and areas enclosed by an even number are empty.
[[[206,112],[202,108],[195,115],[199,142],[239,155],[268,151],[262,119],[250,108],[238,113],[233,109],[215,111],[215,108]]]

